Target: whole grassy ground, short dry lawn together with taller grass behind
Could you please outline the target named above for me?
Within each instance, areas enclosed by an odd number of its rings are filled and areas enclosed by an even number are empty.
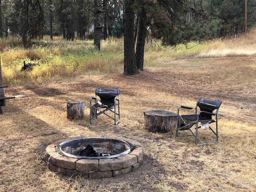
[[[61,40],[29,51],[4,48],[5,95],[28,97],[8,100],[0,116],[0,191],[256,192],[255,34],[188,50],[147,44],[145,70],[136,76],[122,76],[122,40],[102,42],[101,52],[92,50],[91,42]],[[40,66],[20,72],[23,60]],[[104,116],[89,122],[89,100],[99,87],[120,88],[117,126]],[[176,112],[181,104],[195,106],[200,96],[222,101],[218,144],[198,147],[191,136],[145,130],[144,110]],[[71,99],[85,101],[83,120],[66,118]],[[207,129],[200,131],[199,139],[214,139]],[[144,146],[144,163],[136,172],[104,179],[69,178],[44,164],[49,144],[95,135],[137,140]]]

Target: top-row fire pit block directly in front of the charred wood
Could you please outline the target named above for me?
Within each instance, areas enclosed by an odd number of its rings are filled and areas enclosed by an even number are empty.
[[[80,159],[76,162],[77,171],[98,171],[99,160]]]

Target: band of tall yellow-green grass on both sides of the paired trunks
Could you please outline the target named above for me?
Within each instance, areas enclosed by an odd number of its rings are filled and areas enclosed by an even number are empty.
[[[256,55],[256,29],[252,29],[247,37],[239,35],[234,39],[216,39],[209,42],[191,42],[187,47],[163,47],[161,42],[148,41],[145,46],[144,66],[159,66],[178,58],[213,58]],[[17,41],[17,40],[16,40]],[[91,40],[74,40],[68,42],[61,38],[51,41],[47,36],[36,41],[29,49],[13,47],[2,40],[2,75],[5,84],[38,81],[50,78],[76,76],[84,72],[122,72],[124,60],[123,39],[108,38],[102,40],[101,51],[94,49]],[[11,42],[11,41],[9,41]],[[21,72],[23,62],[35,63],[38,66],[31,72]]]

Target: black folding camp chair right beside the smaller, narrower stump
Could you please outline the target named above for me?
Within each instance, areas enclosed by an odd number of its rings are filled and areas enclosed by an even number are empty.
[[[97,96],[100,100],[97,99]],[[90,124],[96,121],[97,117],[101,114],[112,118],[115,125],[119,123],[119,89],[96,89],[95,97],[90,98]]]

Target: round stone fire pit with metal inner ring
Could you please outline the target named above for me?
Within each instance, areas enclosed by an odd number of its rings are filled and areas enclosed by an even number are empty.
[[[97,154],[80,156],[86,146],[93,146]],[[45,162],[52,172],[66,176],[107,178],[135,171],[142,164],[142,145],[122,137],[76,137],[59,140],[45,150]]]

